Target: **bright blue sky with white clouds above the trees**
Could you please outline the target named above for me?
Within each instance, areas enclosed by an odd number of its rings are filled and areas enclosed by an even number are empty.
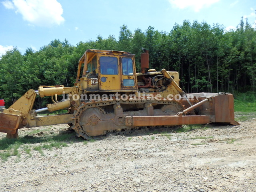
[[[235,29],[241,18],[256,28],[256,0],[0,0],[0,56],[14,47],[22,54],[59,39],[80,41],[114,35],[125,24],[170,32],[184,20]]]

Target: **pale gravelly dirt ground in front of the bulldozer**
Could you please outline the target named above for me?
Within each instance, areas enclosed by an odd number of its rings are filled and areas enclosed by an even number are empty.
[[[188,132],[146,129],[87,144],[71,134],[74,142],[43,149],[44,156],[31,150],[29,157],[20,147],[18,160],[11,156],[0,164],[0,191],[256,192],[256,120],[240,123]]]

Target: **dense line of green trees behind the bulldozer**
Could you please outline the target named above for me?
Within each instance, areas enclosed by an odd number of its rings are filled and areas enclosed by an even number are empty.
[[[256,89],[256,28],[243,18],[236,30],[224,26],[184,20],[170,32],[149,26],[132,33],[126,25],[120,27],[118,40],[98,36],[96,40],[79,42],[52,40],[39,51],[27,48],[24,54],[13,48],[0,60],[0,98],[10,106],[28,89],[40,85],[73,86],[78,60],[86,49],[128,51],[136,54],[140,69],[142,48],[149,50],[150,68],[178,71],[180,86],[187,92],[243,92]],[[38,108],[44,100],[36,101]]]

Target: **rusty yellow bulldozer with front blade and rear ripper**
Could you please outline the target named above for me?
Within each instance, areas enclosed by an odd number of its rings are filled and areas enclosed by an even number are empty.
[[[130,52],[88,49],[78,62],[73,87],[39,86],[28,90],[0,112],[0,132],[18,138],[18,129],[68,124],[78,137],[126,134],[144,127],[226,123],[234,120],[230,93],[186,94],[178,72],[149,69],[149,53],[141,54],[136,72]],[[62,95],[62,100],[58,97]],[[46,108],[33,109],[36,96],[51,97]],[[40,115],[66,109],[64,114]]]

